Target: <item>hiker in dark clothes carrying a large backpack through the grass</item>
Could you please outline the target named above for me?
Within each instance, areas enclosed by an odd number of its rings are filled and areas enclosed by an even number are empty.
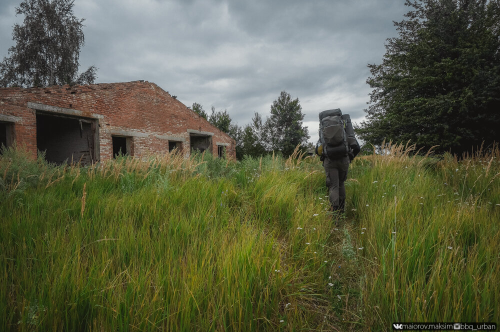
[[[360,151],[350,116],[342,114],[340,108],[320,112],[318,133],[315,152],[323,161],[331,211],[343,213],[347,169]]]

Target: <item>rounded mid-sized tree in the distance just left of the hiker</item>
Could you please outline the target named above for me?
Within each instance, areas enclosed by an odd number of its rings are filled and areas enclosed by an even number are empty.
[[[302,126],[304,114],[298,98],[291,99],[289,93],[281,91],[279,97],[272,102],[271,114],[264,123],[267,148],[290,155],[298,144],[304,146],[309,134],[306,126]]]

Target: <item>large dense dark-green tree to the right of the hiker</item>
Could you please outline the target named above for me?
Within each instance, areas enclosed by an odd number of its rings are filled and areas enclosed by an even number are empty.
[[[500,0],[406,0],[372,88],[365,141],[461,152],[500,137]]]

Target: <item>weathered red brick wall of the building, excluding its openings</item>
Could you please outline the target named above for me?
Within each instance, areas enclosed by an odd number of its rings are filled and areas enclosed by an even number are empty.
[[[227,155],[235,157],[234,139],[148,81],[0,88],[0,120],[14,123],[16,141],[26,144],[33,156],[36,111],[94,119],[101,159],[112,158],[111,135],[131,136],[138,156],[168,152],[169,140],[181,141],[188,154],[190,132],[213,133],[212,151],[216,153],[217,143],[224,144]]]

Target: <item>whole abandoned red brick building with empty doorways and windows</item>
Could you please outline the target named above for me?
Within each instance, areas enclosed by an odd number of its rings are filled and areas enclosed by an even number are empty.
[[[88,164],[177,148],[235,157],[234,139],[148,81],[0,88],[0,144]]]

